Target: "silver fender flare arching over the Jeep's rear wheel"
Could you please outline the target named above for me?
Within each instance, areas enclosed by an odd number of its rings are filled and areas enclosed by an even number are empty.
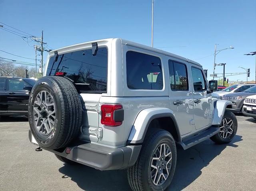
[[[178,142],[181,141],[180,131],[178,128],[178,124],[176,122],[175,115],[172,110],[164,107],[155,107],[155,108],[147,108],[137,115],[134,124],[132,126],[132,130],[130,131],[130,135],[128,137],[127,143],[130,144],[138,144],[144,141],[146,136],[146,132],[148,130],[148,126],[150,122],[156,118],[162,117],[170,117],[174,122],[174,128],[178,134]]]

